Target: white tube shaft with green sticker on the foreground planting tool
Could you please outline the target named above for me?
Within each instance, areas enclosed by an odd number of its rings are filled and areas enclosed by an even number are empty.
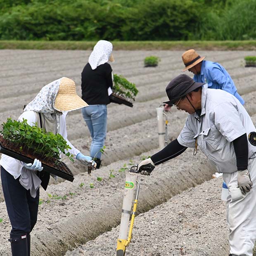
[[[130,211],[132,209],[134,201],[137,177],[137,173],[126,172],[126,186],[123,196],[123,209],[120,223],[119,239],[127,239],[128,236]]]

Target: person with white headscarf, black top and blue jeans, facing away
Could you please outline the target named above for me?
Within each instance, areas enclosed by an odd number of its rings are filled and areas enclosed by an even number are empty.
[[[100,168],[100,149],[107,134],[107,104],[110,103],[108,90],[111,91],[113,87],[112,69],[108,63],[114,62],[112,50],[109,41],[98,41],[81,74],[82,99],[90,105],[82,109],[82,114],[92,137],[90,156],[97,163],[97,168]]]

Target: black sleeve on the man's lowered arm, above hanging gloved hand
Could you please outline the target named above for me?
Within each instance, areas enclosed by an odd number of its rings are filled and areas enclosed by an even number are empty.
[[[237,157],[237,170],[246,170],[248,167],[248,141],[246,133],[233,140],[233,145]]]

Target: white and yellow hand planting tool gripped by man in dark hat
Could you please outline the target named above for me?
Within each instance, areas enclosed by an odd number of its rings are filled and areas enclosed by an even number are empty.
[[[116,256],[124,256],[126,247],[130,244],[133,233],[133,223],[137,209],[137,202],[140,190],[140,183],[137,180],[138,166],[133,165],[126,173],[126,185],[123,196],[123,208],[120,223],[119,238],[117,239]],[[136,183],[136,186],[135,186]],[[133,205],[132,217],[130,220],[131,209]],[[128,233],[128,226],[130,220],[130,228]],[[128,233],[128,238],[127,238]]]

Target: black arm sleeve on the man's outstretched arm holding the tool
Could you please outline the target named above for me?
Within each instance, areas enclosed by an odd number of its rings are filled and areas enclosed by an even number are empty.
[[[168,161],[181,153],[183,153],[187,147],[184,147],[180,145],[178,140],[173,140],[171,143],[169,143],[165,148],[163,148],[161,151],[157,152],[153,156],[151,156],[151,159],[155,165],[162,164],[165,161]]]

